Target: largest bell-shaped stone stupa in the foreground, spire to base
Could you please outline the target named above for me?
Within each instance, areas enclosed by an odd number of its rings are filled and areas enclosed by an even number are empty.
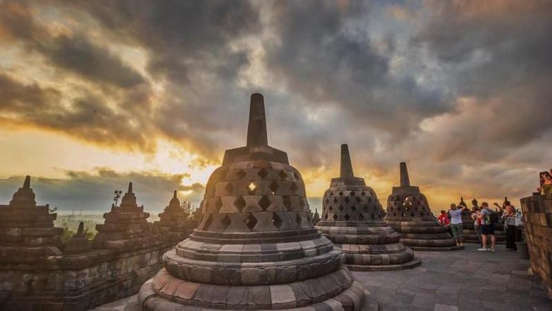
[[[304,182],[268,146],[263,95],[247,145],[207,182],[200,224],[139,293],[143,310],[360,310],[364,288],[312,225]]]

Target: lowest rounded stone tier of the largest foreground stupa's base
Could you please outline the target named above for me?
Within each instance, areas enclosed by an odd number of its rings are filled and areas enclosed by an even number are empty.
[[[318,278],[261,286],[194,283],[171,276],[166,269],[161,269],[159,274],[144,283],[139,300],[144,311],[359,311],[364,302],[364,287],[354,281],[344,268]]]

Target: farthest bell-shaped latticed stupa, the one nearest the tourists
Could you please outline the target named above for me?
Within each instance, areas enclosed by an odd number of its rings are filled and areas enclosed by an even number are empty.
[[[401,233],[401,242],[413,250],[461,250],[448,228],[439,225],[420,188],[410,186],[406,163],[401,163],[401,186],[387,199],[387,225]]]

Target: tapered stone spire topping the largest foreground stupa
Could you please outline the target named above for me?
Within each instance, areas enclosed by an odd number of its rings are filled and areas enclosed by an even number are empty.
[[[247,146],[268,146],[266,133],[265,100],[262,94],[253,93],[249,105]]]

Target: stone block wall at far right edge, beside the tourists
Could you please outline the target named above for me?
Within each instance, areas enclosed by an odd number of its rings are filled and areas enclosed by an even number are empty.
[[[552,195],[521,199],[531,269],[552,297]]]

